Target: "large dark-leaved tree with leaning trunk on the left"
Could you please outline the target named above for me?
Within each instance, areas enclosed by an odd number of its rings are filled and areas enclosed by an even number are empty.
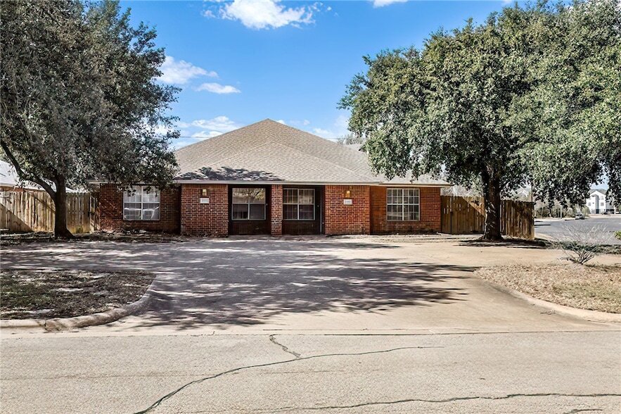
[[[132,27],[117,1],[8,1],[1,39],[0,146],[50,194],[56,237],[71,237],[67,186],[172,180],[176,89],[155,81],[165,55],[154,30]]]

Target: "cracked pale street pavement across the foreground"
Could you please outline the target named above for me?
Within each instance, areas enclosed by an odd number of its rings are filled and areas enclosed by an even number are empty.
[[[3,342],[1,411],[618,413],[619,339],[45,334]]]

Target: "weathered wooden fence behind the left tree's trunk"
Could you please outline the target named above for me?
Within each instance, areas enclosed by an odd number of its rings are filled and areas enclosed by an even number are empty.
[[[90,193],[67,194],[67,227],[74,234],[98,230],[97,199]],[[46,192],[0,192],[0,229],[53,232],[54,203]]]

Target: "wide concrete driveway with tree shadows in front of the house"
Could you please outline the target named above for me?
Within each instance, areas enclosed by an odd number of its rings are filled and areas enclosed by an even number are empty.
[[[482,265],[558,256],[532,246],[424,237],[198,239],[22,245],[4,251],[3,265],[156,272],[151,306],[89,328],[106,332],[599,329],[530,306],[472,273]]]

